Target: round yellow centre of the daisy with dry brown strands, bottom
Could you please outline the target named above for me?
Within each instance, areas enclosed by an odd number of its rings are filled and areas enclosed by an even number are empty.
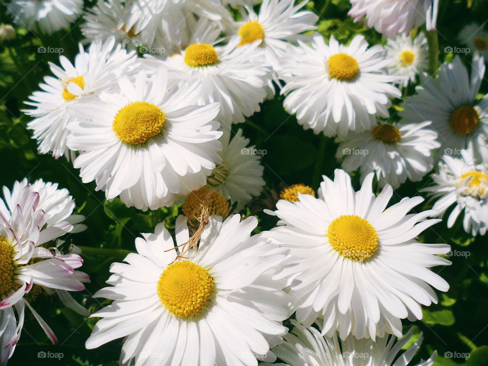
[[[214,291],[208,270],[189,260],[166,267],[158,281],[158,296],[164,307],[178,318],[200,315]]]

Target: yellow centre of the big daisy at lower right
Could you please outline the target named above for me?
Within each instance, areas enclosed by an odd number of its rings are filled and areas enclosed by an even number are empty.
[[[342,215],[332,221],[327,237],[332,248],[351,260],[367,260],[378,250],[375,228],[357,215]]]

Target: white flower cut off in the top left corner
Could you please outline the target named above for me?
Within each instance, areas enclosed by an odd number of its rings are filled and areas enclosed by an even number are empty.
[[[78,18],[83,0],[12,0],[7,9],[14,23],[50,35]]]

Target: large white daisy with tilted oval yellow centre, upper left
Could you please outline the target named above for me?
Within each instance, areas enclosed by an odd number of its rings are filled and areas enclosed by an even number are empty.
[[[69,108],[80,120],[68,125],[68,146],[80,151],[74,166],[107,199],[143,210],[171,206],[175,195],[204,186],[205,173],[221,162],[219,104],[195,105],[200,83],[167,85],[166,70],[150,78],[141,71],[134,81],[120,79],[118,93]]]

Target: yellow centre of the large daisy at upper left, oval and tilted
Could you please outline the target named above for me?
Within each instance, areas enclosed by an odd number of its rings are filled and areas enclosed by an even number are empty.
[[[112,130],[120,141],[140,144],[158,135],[165,121],[166,114],[159,107],[147,102],[134,102],[115,114]]]

